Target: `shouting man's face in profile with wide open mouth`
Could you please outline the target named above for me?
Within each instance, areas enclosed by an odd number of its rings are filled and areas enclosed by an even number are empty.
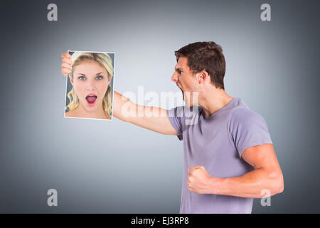
[[[188,58],[180,57],[174,68],[174,74],[171,76],[171,81],[176,83],[176,86],[181,89],[183,100],[187,106],[196,105],[198,103],[198,81],[196,76],[188,67]],[[197,98],[193,98],[197,96]]]

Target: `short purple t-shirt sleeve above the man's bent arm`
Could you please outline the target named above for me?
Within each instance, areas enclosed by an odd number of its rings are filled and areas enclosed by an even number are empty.
[[[248,108],[235,110],[230,121],[230,134],[240,157],[248,147],[272,144],[265,119]]]

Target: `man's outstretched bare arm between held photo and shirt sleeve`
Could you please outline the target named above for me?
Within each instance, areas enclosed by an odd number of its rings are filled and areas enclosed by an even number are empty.
[[[178,135],[172,127],[165,109],[137,105],[116,91],[114,91],[113,99],[112,113],[119,120],[133,123],[157,133]]]

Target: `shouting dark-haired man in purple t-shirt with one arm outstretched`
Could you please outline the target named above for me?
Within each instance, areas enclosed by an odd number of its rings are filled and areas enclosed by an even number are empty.
[[[225,58],[218,44],[191,43],[175,54],[171,81],[181,89],[185,107],[146,107],[114,92],[113,115],[183,140],[180,213],[251,213],[252,198],[284,190],[267,123],[225,93]],[[64,75],[70,64],[63,53]],[[141,115],[147,111],[157,115]]]

